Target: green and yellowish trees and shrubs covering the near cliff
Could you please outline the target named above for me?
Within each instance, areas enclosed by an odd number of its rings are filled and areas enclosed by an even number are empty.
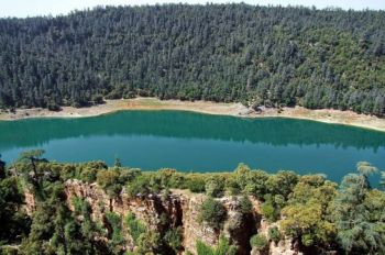
[[[97,185],[109,199],[118,200],[122,193],[134,199],[157,195],[168,199],[174,189],[206,193],[200,195],[206,199],[199,220],[217,233],[219,243],[210,247],[197,240],[199,255],[237,254],[240,248],[250,252],[252,247],[266,251],[271,242],[278,243],[283,236],[310,254],[385,251],[385,192],[371,187],[369,176],[377,169],[369,163],[360,163],[358,173],[338,186],[321,175],[267,174],[242,164],[233,173],[187,174],[173,169],[141,171],[119,164],[108,167],[101,162],[59,164],[42,156],[42,151],[24,153],[7,168],[0,162],[0,251],[4,254],[178,254],[185,250],[180,225],[169,224],[170,215],[161,214],[157,224],[162,228],[155,231],[132,212],[123,217],[108,210],[98,221],[91,217],[87,197],[68,203],[65,185],[73,179]],[[32,212],[26,213],[24,193],[29,192],[35,201]],[[223,196],[237,200],[229,219]],[[241,244],[222,233],[237,232],[242,222],[256,224],[250,215],[260,212],[251,198],[262,203],[262,214],[275,226],[266,234],[256,229],[246,233],[250,240]]]

